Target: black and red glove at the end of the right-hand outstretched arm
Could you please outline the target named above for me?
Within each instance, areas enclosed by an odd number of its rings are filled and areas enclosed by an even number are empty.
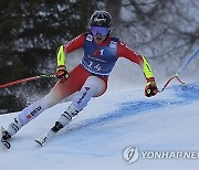
[[[154,77],[147,78],[147,85],[145,87],[145,96],[151,97],[158,93],[158,88]]]

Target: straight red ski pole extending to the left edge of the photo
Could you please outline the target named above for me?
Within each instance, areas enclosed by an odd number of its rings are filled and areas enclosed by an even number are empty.
[[[0,88],[10,87],[10,86],[13,86],[13,85],[17,85],[17,84],[21,84],[21,83],[25,83],[25,82],[30,82],[30,81],[34,81],[34,79],[54,78],[54,77],[55,77],[54,74],[49,74],[49,75],[42,74],[42,75],[38,75],[38,76],[29,77],[29,78],[23,78],[23,79],[18,79],[18,81],[14,81],[14,82],[2,84],[2,85],[0,85]]]

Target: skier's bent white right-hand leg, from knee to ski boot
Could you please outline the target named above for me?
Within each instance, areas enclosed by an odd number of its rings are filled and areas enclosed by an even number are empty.
[[[97,76],[90,76],[80,92],[73,98],[69,108],[55,121],[52,131],[57,132],[66,126],[87,105],[92,97],[97,97],[106,91],[106,81]]]

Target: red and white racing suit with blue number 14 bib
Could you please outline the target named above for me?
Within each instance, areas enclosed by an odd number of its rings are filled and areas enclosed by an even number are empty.
[[[83,33],[65,44],[64,51],[71,53],[81,47],[84,50],[81,64],[70,72],[70,77],[64,83],[57,82],[45,97],[25,107],[18,115],[22,125],[76,92],[72,105],[77,110],[83,109],[92,97],[105,93],[108,75],[119,57],[140,65],[146,78],[154,76],[147,60],[118,39],[107,36],[103,43],[96,44],[92,34]]]

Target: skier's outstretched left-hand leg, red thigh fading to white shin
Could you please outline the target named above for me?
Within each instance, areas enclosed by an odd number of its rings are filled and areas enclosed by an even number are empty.
[[[76,78],[77,75],[82,73],[81,78]],[[87,73],[83,70],[81,65],[76,66],[71,73],[70,78],[64,82],[57,82],[52,91],[42,99],[31,104],[30,106],[25,107],[18,117],[9,125],[7,131],[9,137],[17,134],[23,125],[27,125],[29,121],[38,117],[42,111],[45,109],[54,106],[63,98],[72,95],[73,93],[81,89],[82,84],[84,84]]]

